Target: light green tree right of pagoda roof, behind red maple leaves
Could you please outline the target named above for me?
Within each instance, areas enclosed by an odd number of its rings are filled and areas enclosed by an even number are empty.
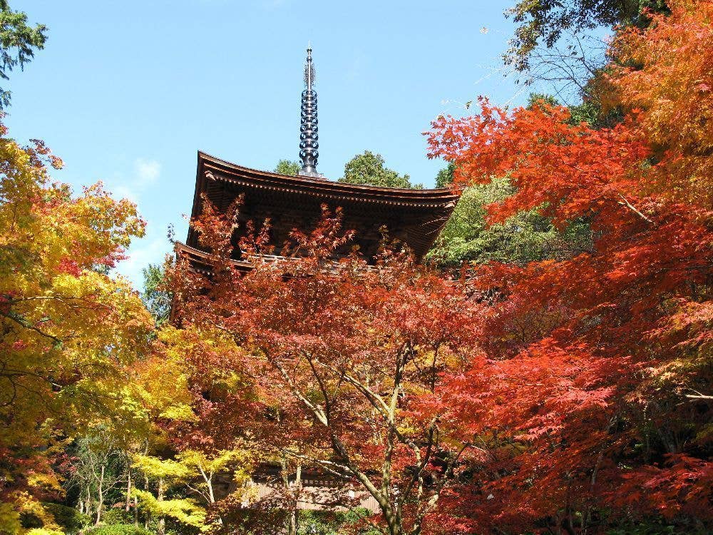
[[[537,210],[529,210],[503,224],[489,225],[486,206],[506,199],[514,191],[506,178],[463,190],[427,258],[443,268],[460,267],[463,262],[523,265],[589,250],[591,231],[585,221],[576,221],[560,231]]]

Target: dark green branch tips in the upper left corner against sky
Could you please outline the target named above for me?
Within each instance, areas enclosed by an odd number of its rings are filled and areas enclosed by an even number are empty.
[[[0,78],[9,80],[9,72],[16,66],[24,69],[34,58],[34,49],[44,48],[47,27],[30,26],[27,14],[12,11],[7,0],[0,0]],[[0,88],[0,110],[10,105],[10,91]]]

